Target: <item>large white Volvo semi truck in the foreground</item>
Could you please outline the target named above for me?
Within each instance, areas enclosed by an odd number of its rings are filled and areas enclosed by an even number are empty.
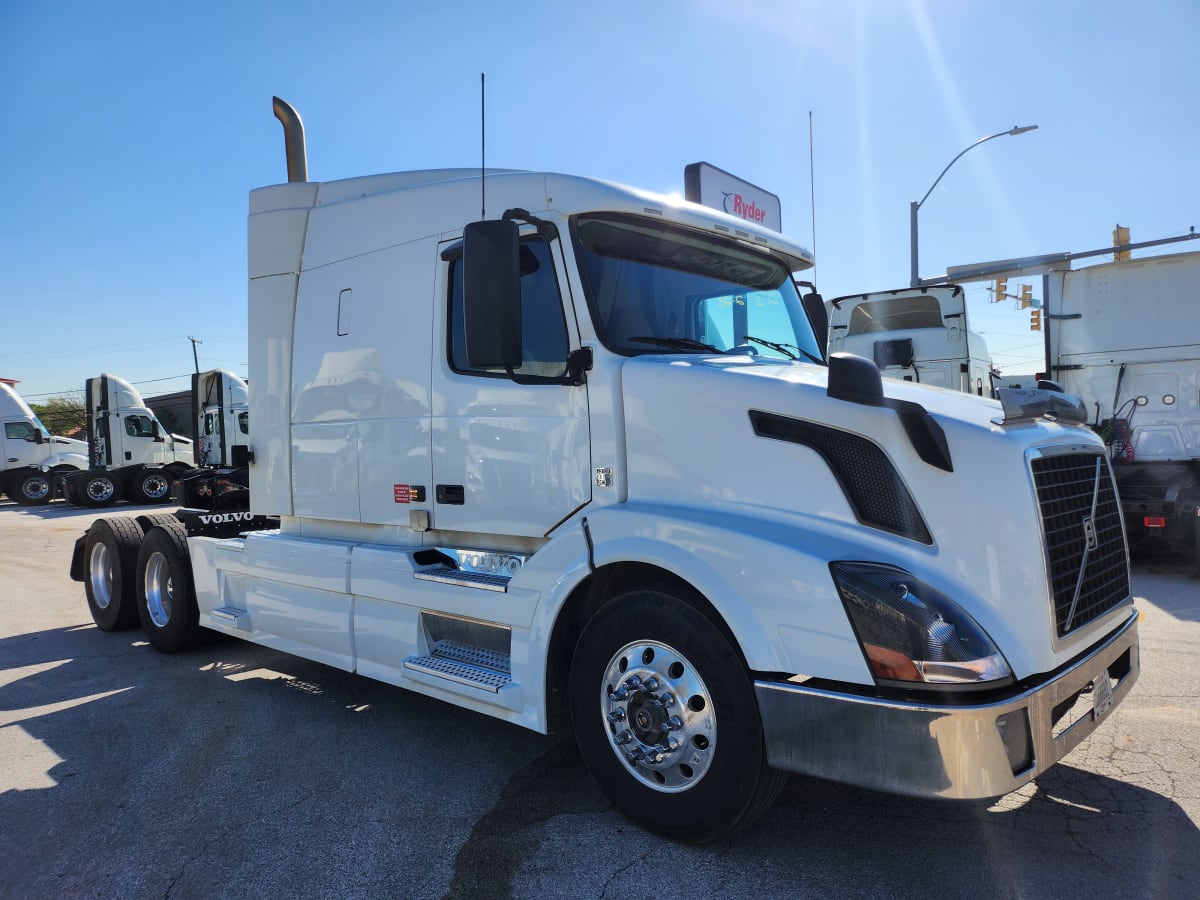
[[[251,509],[98,520],[97,625],[217,631],[547,732],[712,840],[785,773],[1013,791],[1139,673],[1078,401],[828,365],[808,251],[558,174],[250,197]],[[990,510],[986,539],[979,510]]]

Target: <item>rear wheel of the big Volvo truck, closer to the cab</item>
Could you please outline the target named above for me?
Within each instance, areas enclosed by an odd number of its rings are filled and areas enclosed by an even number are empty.
[[[179,653],[199,643],[203,630],[184,526],[164,523],[146,533],[138,551],[137,598],[142,630],[156,650]]]

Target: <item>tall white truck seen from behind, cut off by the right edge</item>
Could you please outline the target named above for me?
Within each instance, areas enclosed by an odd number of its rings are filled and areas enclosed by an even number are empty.
[[[1049,377],[1110,448],[1130,541],[1200,563],[1200,252],[1045,278]]]

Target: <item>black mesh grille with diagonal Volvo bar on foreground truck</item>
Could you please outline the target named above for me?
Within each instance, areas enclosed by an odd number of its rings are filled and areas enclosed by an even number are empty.
[[[1063,637],[1129,598],[1121,503],[1102,454],[1042,456],[1032,468]]]

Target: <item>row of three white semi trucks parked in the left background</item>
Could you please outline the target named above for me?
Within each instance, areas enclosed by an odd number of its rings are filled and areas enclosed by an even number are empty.
[[[50,434],[29,404],[0,384],[4,469],[0,493],[22,505],[55,496],[82,506],[119,499],[190,505],[245,500],[245,464],[234,464],[250,434],[246,383],[223,370],[192,376],[196,442],[170,433],[122,378],[102,374],[84,384],[86,440]]]

